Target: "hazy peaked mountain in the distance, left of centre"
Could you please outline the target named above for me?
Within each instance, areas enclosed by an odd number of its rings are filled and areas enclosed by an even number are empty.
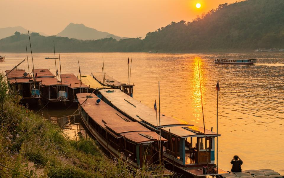
[[[113,38],[116,40],[125,39],[125,37],[115,36],[113,34],[98,31],[94,28],[86,27],[83,24],[70,23],[63,31],[56,36],[76,38],[82,40],[97,40],[104,38]]]

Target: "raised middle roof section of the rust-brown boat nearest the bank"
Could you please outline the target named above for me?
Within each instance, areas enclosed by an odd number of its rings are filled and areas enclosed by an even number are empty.
[[[148,128],[144,127],[138,122],[124,122],[123,124],[118,122],[112,122],[105,125],[117,134],[134,131],[150,131]]]

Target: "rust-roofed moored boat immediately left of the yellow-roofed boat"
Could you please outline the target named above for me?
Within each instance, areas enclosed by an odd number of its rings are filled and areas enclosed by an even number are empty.
[[[84,83],[81,85],[80,80],[74,74],[62,74],[61,80],[62,83],[68,85],[67,99],[69,101],[77,102],[77,93],[88,93],[89,87]]]

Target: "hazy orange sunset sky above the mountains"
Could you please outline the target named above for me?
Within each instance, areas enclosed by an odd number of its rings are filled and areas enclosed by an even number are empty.
[[[236,0],[0,0],[0,28],[55,35],[70,22],[126,37],[144,37],[172,21],[191,21]],[[201,8],[195,7],[196,3]]]

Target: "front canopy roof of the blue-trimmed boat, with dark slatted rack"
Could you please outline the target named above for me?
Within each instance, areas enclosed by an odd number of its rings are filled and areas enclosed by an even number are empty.
[[[169,129],[171,129],[171,134],[177,137],[204,137],[204,128],[196,127],[196,126],[174,126],[168,128],[162,128],[162,130],[170,133]],[[205,129],[206,136],[217,136],[217,133],[212,132],[208,129]],[[221,134],[218,134],[221,136]]]

